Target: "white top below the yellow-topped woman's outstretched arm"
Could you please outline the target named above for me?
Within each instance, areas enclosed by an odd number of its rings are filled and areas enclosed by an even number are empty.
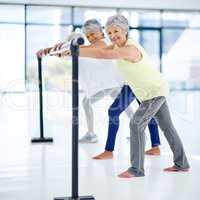
[[[86,57],[79,57],[79,81],[87,97],[125,84],[115,60]]]

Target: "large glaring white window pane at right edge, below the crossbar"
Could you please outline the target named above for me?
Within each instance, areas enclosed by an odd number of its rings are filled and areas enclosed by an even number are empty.
[[[163,72],[175,89],[200,88],[200,30],[163,31]]]

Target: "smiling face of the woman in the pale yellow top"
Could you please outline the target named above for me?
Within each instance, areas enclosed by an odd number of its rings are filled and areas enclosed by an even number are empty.
[[[111,42],[119,47],[124,46],[127,41],[127,32],[119,26],[111,25],[106,28],[106,33]]]

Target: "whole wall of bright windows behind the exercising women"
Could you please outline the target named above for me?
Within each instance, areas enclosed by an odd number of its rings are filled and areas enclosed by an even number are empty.
[[[129,36],[145,48],[158,69],[162,54],[162,70],[172,88],[200,88],[200,12],[118,11],[129,20]],[[1,90],[24,91],[25,77],[28,88],[35,87],[37,50],[65,40],[73,28],[81,32],[81,26],[88,19],[96,18],[105,26],[108,17],[114,14],[117,14],[117,8],[0,4]],[[48,90],[59,84],[63,88],[61,80],[71,75],[69,64],[52,57],[44,58],[43,72],[44,88]]]

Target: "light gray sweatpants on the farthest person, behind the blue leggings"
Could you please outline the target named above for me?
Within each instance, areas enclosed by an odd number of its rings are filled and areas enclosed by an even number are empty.
[[[93,115],[92,104],[96,103],[97,101],[101,100],[102,98],[108,95],[111,96],[113,99],[115,99],[117,95],[120,93],[121,89],[122,89],[121,87],[105,89],[96,93],[90,98],[87,97],[83,98],[82,104],[85,111],[88,132],[94,132],[94,115]],[[133,116],[133,110],[131,109],[130,106],[125,110],[125,112],[127,116],[131,119]]]

